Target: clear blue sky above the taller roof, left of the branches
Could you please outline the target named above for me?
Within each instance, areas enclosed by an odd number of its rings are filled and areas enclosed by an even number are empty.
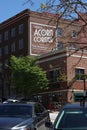
[[[0,0],[0,23],[25,9],[36,11],[45,0],[33,0],[35,4],[32,6],[27,1],[28,0]]]

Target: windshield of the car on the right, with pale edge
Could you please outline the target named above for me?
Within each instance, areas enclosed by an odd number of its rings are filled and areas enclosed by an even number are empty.
[[[55,130],[87,130],[87,109],[65,109],[55,122]]]

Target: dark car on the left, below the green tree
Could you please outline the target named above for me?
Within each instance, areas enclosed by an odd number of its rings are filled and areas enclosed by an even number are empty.
[[[46,120],[49,112],[40,103],[0,104],[0,130],[47,130]]]

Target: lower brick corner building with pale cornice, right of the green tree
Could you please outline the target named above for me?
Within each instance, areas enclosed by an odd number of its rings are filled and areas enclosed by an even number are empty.
[[[77,51],[70,48],[62,48],[39,57],[39,65],[46,70],[50,80],[50,89],[43,92],[42,96],[55,95],[60,103],[79,101],[84,89],[87,90],[87,82],[84,82],[84,75],[87,75],[87,51]],[[74,52],[74,53],[73,53]],[[66,76],[64,80],[57,80],[60,72]],[[77,77],[78,74],[83,75]],[[85,87],[85,88],[84,88]],[[47,98],[48,99],[48,98]],[[48,101],[49,102],[49,101]]]

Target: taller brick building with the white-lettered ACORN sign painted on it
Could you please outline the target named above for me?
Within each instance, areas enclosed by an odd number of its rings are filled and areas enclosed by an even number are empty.
[[[66,48],[66,46],[72,49],[79,47],[80,43],[78,45],[76,44],[76,41],[78,41],[78,39],[79,41],[81,40],[81,37],[77,36],[77,32],[81,29],[80,24],[78,24],[77,21],[72,22],[72,24],[70,23],[70,20],[59,19],[59,15],[47,12],[38,13],[28,9],[0,23],[0,67],[2,72],[0,90],[3,97],[11,95],[11,87],[9,87],[8,82],[9,73],[7,71],[8,69],[5,67],[6,64],[9,64],[11,55],[17,57],[41,55],[41,57],[44,57],[44,55],[50,54],[52,59],[54,59],[57,55],[65,55],[64,52],[61,52],[61,49]],[[49,61],[48,56],[45,56],[44,58],[44,60],[47,59]],[[62,57],[56,60],[55,63],[53,62],[53,64],[55,64],[53,66],[60,64],[59,67],[61,67],[63,65],[63,71],[67,75],[69,81],[71,78],[67,71],[67,68],[69,67],[67,65],[69,63],[67,60],[70,59]],[[63,63],[64,61],[65,64]],[[44,64],[46,64],[46,66],[49,64],[50,67],[52,67],[52,63],[50,62],[52,61]],[[44,68],[42,64],[40,65]],[[44,69],[46,70],[46,68]],[[72,75],[74,75],[73,71],[71,76]],[[48,74],[47,76],[49,78]],[[66,83],[68,83],[68,81]],[[57,85],[55,84],[55,86]]]

